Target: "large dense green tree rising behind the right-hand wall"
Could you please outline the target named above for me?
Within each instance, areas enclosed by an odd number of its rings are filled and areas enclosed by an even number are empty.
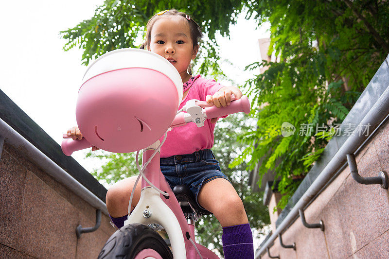
[[[389,4],[374,0],[253,1],[248,13],[271,24],[269,53],[278,63],[248,80],[258,127],[241,137],[255,141],[239,159],[251,156],[250,168],[263,158],[259,174],[274,170],[281,179],[284,207],[299,182],[328,143],[336,128],[389,52]],[[281,135],[283,122],[296,133]],[[310,126],[312,125],[312,130]],[[303,133],[303,134],[301,134]],[[302,176],[302,177],[301,177]]]

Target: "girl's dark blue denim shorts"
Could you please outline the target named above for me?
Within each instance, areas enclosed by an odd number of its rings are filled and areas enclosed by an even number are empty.
[[[176,185],[186,185],[195,196],[197,204],[197,195],[203,184],[216,178],[224,178],[230,182],[221,172],[211,149],[160,158],[160,168],[172,190]]]

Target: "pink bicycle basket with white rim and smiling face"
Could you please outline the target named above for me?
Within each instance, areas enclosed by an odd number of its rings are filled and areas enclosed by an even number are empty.
[[[87,69],[76,120],[90,144],[114,153],[134,152],[159,139],[175,118],[183,95],[177,69],[140,49],[120,49]]]

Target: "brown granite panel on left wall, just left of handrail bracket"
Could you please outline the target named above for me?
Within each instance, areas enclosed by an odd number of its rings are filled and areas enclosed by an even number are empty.
[[[27,171],[18,247],[37,258],[75,258],[77,210]]]

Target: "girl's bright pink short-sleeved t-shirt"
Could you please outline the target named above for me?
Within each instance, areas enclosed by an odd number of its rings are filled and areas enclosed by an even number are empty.
[[[184,91],[188,90],[189,92],[182,100],[178,110],[188,100],[205,101],[207,95],[213,95],[222,87],[214,79],[204,79],[200,75],[191,77],[188,82],[184,83]],[[173,128],[167,133],[166,141],[161,147],[160,157],[192,154],[198,150],[212,148],[214,128],[215,123],[211,123],[210,119],[204,121],[203,127],[197,127],[195,123],[190,122],[184,126]],[[163,136],[159,140],[162,141],[162,139]]]

